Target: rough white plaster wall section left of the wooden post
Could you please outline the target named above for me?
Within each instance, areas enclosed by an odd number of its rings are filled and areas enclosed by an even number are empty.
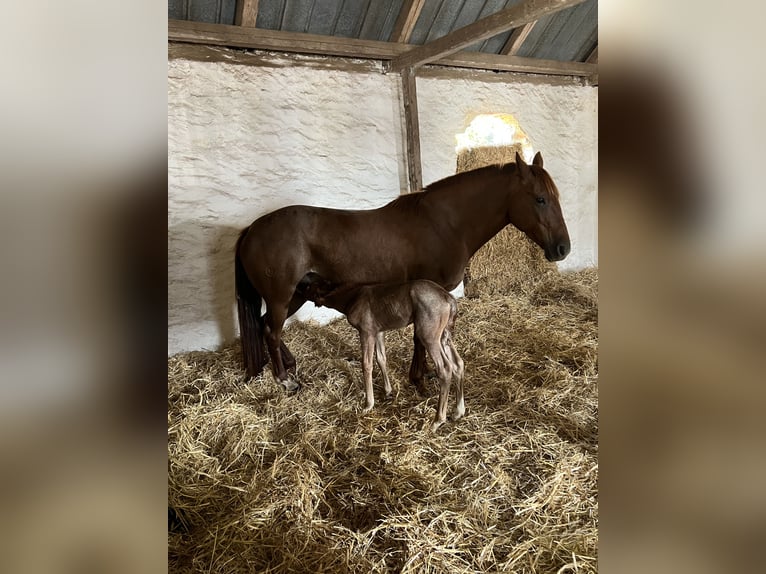
[[[395,78],[273,64],[168,61],[169,354],[235,336],[233,248],[254,219],[400,193]]]

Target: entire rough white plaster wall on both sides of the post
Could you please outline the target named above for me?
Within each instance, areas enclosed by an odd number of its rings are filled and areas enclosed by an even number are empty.
[[[378,207],[405,186],[398,75],[294,64],[168,60],[168,354],[236,336],[233,246],[255,218],[294,203]],[[594,264],[596,91],[419,78],[424,183],[455,172],[455,134],[473,115],[511,112],[559,185],[568,267]]]

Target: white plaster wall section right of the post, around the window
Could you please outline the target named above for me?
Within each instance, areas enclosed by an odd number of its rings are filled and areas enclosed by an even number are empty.
[[[572,252],[559,268],[596,265],[598,88],[481,77],[418,78],[423,183],[455,173],[455,135],[476,115],[511,113],[561,193]]]

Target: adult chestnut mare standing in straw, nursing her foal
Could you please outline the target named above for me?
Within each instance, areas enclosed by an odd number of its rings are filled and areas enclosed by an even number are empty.
[[[242,356],[248,377],[271,357],[288,390],[295,358],[282,342],[284,322],[306,302],[296,287],[308,273],[330,283],[363,285],[428,279],[447,290],[471,256],[506,225],[537,243],[549,261],[569,253],[559,193],[538,152],[516,162],[453,175],[378,209],[283,207],[242,231],[235,284]],[[262,302],[266,313],[261,315]],[[410,381],[425,394],[425,349],[415,338]]]

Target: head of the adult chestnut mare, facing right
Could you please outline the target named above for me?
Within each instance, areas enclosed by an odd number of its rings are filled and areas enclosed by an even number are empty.
[[[516,153],[518,178],[511,194],[510,222],[542,247],[548,261],[560,261],[569,253],[569,232],[559,205],[559,191],[543,169],[543,157],[537,152],[532,165]]]

